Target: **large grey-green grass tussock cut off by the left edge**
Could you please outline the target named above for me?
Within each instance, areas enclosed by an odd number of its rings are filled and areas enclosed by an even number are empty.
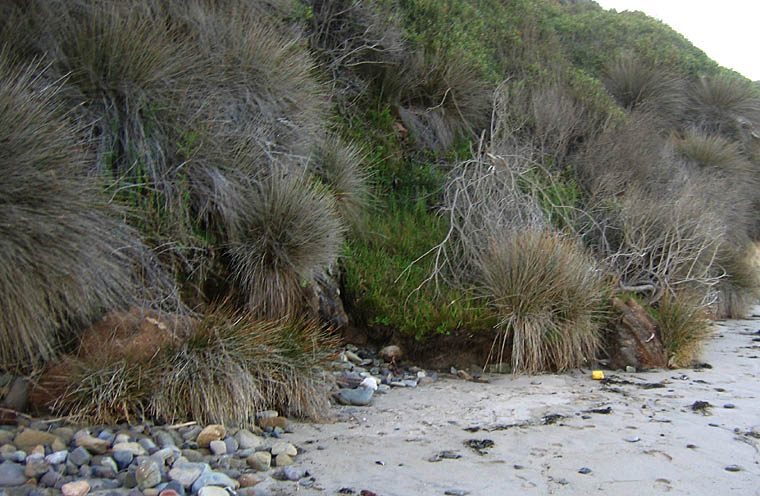
[[[52,358],[61,340],[137,296],[139,237],[86,175],[77,129],[43,67],[0,52],[0,367]]]

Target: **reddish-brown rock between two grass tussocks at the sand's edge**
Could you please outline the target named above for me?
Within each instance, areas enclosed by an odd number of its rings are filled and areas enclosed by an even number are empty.
[[[620,316],[612,324],[610,366],[667,367],[668,355],[657,321],[634,299],[613,298],[612,306]]]

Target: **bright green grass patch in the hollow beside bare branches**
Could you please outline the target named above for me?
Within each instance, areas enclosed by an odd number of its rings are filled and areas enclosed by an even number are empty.
[[[390,327],[421,340],[434,333],[485,331],[496,323],[482,301],[425,280],[428,257],[409,266],[446,234],[443,221],[424,204],[395,207],[375,216],[366,239],[352,240],[344,256],[345,296],[355,313],[372,327]]]

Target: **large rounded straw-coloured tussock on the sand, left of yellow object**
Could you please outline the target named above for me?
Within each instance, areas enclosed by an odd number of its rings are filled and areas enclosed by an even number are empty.
[[[502,360],[510,341],[515,373],[567,370],[596,356],[609,288],[578,243],[545,231],[509,233],[492,240],[478,266],[501,317],[494,358]]]

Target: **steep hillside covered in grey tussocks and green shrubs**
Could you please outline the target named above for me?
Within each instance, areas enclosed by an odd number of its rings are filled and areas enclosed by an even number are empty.
[[[138,376],[247,343],[279,372],[241,355],[207,382],[264,387],[329,345],[303,318],[345,324],[338,291],[378,342],[477,334],[528,372],[602,353],[622,293],[680,365],[706,310],[758,295],[758,90],[641,13],[35,0],[0,19],[0,368],[67,352],[102,378],[73,338],[153,308],[197,319]]]

